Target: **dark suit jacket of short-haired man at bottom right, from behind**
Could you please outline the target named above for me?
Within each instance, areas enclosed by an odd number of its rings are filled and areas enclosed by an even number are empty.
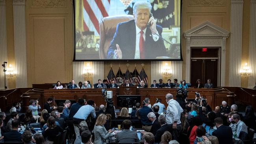
[[[215,131],[212,132],[212,135],[218,138],[219,144],[234,144],[232,140],[232,129],[229,126],[219,126]]]

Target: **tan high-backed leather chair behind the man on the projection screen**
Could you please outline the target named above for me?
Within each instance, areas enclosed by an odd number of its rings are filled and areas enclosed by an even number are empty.
[[[107,51],[113,39],[117,24],[134,19],[132,15],[117,15],[104,17],[100,20],[100,59],[107,59]]]

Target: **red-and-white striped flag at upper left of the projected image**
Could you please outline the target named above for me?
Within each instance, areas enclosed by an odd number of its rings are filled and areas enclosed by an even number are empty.
[[[83,1],[83,29],[95,31],[99,34],[99,21],[108,17],[110,0],[82,0]]]

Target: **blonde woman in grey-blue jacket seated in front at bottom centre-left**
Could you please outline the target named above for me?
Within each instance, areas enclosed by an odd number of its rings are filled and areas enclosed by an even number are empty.
[[[106,144],[106,140],[109,137],[114,136],[115,134],[112,133],[111,129],[108,131],[105,129],[104,124],[106,123],[107,116],[105,114],[100,114],[96,120],[95,126],[94,126],[94,143],[95,144]]]

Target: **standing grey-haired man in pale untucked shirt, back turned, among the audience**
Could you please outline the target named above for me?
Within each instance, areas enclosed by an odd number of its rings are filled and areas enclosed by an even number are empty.
[[[171,124],[173,126],[173,129],[180,131],[182,129],[180,122],[180,113],[183,112],[183,109],[182,107],[180,107],[180,104],[173,99],[172,94],[166,94],[165,100],[168,104],[166,110],[166,123]],[[173,135],[174,139],[176,139],[176,137],[178,136]]]

